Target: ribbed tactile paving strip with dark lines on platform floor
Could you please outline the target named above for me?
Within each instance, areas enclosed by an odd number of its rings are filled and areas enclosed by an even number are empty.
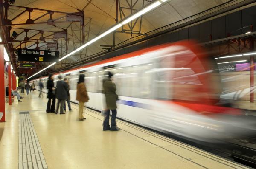
[[[47,169],[29,112],[19,114],[19,169]]]

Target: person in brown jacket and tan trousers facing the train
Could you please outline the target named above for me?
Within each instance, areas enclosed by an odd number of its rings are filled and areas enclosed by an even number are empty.
[[[79,79],[76,87],[76,100],[79,101],[79,121],[83,121],[86,118],[83,116],[84,102],[89,101],[89,96],[84,84],[84,74],[79,75]]]

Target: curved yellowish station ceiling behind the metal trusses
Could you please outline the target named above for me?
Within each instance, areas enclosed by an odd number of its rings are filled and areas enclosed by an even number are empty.
[[[239,2],[242,0],[230,0],[230,3]],[[152,0],[119,0],[119,7],[122,7],[122,12],[118,8],[118,20],[120,16],[128,16],[136,11],[135,9],[140,9],[147,3],[152,2]],[[206,11],[210,8],[221,6],[223,3],[227,3],[229,0],[170,0],[168,3],[164,3],[162,6],[156,8],[154,11],[143,15],[142,21],[140,19],[135,23],[134,28],[131,31],[128,25],[123,27],[125,33],[115,34],[115,44],[124,42],[131,37],[135,37],[138,34],[145,34],[146,32],[153,31],[157,28],[163,27],[170,23],[175,23],[176,21],[183,20],[192,15],[198,14],[202,11]],[[75,13],[79,11],[84,11],[84,41],[92,39],[102,32],[106,31],[112,25],[116,23],[116,0],[16,0],[13,6],[9,6],[8,19],[15,18],[18,14],[23,12],[25,9],[15,6],[23,6],[27,8],[39,8],[46,9],[49,11],[61,11],[67,13]],[[133,6],[134,10],[128,9]],[[228,4],[227,4],[228,6]],[[220,8],[223,8],[221,6]],[[214,10],[217,10],[215,8]],[[209,11],[212,12],[212,11]],[[47,11],[33,10],[30,13],[32,20],[46,14]],[[198,17],[198,16],[195,16]],[[60,56],[73,51],[77,47],[83,44],[83,33],[82,26],[80,22],[63,22],[67,21],[66,14],[54,13],[52,14],[52,20],[56,20],[54,23],[47,24],[49,20],[49,14],[45,15],[35,22],[42,22],[42,24],[22,24],[26,23],[29,18],[29,12],[24,12],[19,17],[12,20],[12,30],[17,34],[20,34],[15,38],[15,42],[12,42],[14,48],[26,48],[35,49],[38,47],[42,50],[49,49],[47,42],[58,42],[58,51],[60,51]],[[176,24],[181,24],[186,22],[183,20]],[[131,27],[132,27],[131,26]],[[23,32],[24,29],[35,29]],[[52,32],[63,31],[67,29],[67,41],[64,38],[53,38]],[[36,31],[37,30],[37,31]],[[38,30],[44,31],[43,34],[39,33]],[[51,31],[51,32],[47,32]],[[119,31],[122,31],[120,28]],[[23,32],[23,33],[22,33]],[[36,35],[35,35],[36,34]],[[29,37],[29,42],[22,43],[25,37]],[[30,38],[31,37],[31,38]],[[40,39],[44,37],[45,41],[32,40]],[[20,42],[21,41],[21,42]],[[36,45],[35,42],[38,42]],[[109,34],[103,37],[99,41],[88,46],[88,48],[82,50],[82,52],[77,52],[75,55],[71,56],[70,59],[64,59],[62,63],[56,64],[55,68],[66,66],[72,62],[79,62],[79,60],[84,59],[90,55],[96,54],[102,49],[100,45],[113,45],[113,34]],[[106,47],[109,48],[109,47]],[[55,48],[50,48],[55,50]]]

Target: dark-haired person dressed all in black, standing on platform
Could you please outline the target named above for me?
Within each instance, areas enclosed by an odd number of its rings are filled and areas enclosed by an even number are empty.
[[[46,112],[47,113],[55,113],[55,87],[54,87],[54,82],[53,82],[53,75],[49,74],[48,81],[47,81],[47,89],[48,89],[48,102],[47,102],[47,108]],[[52,100],[52,105],[51,105],[51,100]]]

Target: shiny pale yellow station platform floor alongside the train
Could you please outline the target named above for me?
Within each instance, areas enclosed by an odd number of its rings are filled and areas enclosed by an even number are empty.
[[[102,131],[103,117],[78,105],[64,115],[46,113],[46,94],[6,103],[0,123],[0,169],[246,169],[204,150],[117,120],[120,131]],[[118,111],[118,110],[117,110]]]

